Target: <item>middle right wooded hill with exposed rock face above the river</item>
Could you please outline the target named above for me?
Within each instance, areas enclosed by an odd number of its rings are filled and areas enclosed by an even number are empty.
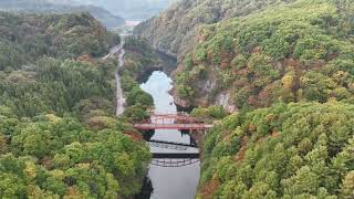
[[[353,102],[351,10],[348,1],[299,0],[202,27],[175,75],[175,94],[233,108]]]

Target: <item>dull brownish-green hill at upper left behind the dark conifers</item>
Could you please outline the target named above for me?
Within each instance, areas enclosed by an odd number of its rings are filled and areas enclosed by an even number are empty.
[[[0,12],[0,70],[19,69],[41,56],[102,56],[119,41],[88,13]]]

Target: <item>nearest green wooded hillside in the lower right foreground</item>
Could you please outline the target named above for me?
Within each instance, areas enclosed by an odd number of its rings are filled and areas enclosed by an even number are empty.
[[[353,198],[354,106],[278,104],[207,134],[197,198]]]

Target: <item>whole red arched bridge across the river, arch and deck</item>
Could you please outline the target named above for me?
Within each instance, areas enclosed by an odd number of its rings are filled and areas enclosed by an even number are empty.
[[[179,129],[179,130],[206,130],[211,128],[211,124],[205,124],[200,119],[190,117],[186,113],[177,114],[153,114],[149,119],[134,127],[140,130],[154,129]]]

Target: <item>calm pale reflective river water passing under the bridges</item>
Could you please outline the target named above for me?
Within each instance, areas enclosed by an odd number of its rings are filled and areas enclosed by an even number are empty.
[[[173,81],[164,72],[154,72],[140,87],[154,97],[155,113],[177,113],[173,96],[168,93],[173,88]],[[156,130],[152,139],[174,143],[190,143],[190,136],[179,130]],[[150,151],[181,153],[180,150],[157,148],[150,146]],[[183,153],[197,153],[188,148]],[[153,182],[152,199],[192,199],[195,198],[200,165],[199,163],[177,168],[149,166],[148,177]]]

